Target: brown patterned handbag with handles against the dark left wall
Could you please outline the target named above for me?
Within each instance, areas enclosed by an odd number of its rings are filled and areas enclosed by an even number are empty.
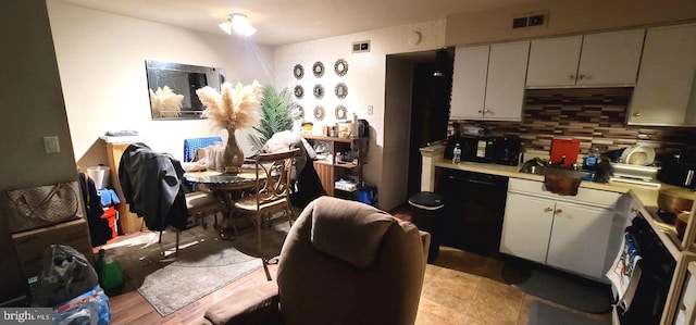
[[[50,226],[83,217],[77,182],[8,190],[11,233]]]

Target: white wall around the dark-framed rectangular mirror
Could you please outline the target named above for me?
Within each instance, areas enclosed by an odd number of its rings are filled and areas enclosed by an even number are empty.
[[[208,120],[152,121],[146,60],[223,67],[228,82],[273,83],[273,52],[231,36],[192,32],[48,1],[75,160],[107,162],[99,136],[135,129],[153,150],[183,159],[184,138],[220,135]],[[237,140],[251,154],[244,133]]]

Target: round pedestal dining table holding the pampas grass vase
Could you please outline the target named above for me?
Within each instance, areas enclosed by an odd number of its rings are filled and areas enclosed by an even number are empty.
[[[259,177],[265,177],[264,173],[259,173]],[[224,217],[219,226],[220,237],[229,239],[229,230],[234,230],[235,236],[237,236],[238,232],[234,223],[235,200],[250,195],[254,189],[257,179],[256,165],[245,164],[236,173],[217,171],[186,172],[184,178],[208,188],[223,202]]]

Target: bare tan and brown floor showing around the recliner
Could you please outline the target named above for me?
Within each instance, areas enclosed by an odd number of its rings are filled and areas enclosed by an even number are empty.
[[[409,220],[408,210],[393,211]],[[502,262],[442,247],[438,258],[427,264],[417,324],[527,324],[529,304],[538,299],[506,284]],[[277,266],[269,265],[275,278]],[[110,296],[111,324],[199,324],[204,311],[235,291],[265,282],[263,268],[162,317],[134,288]],[[610,320],[609,314],[591,315]]]

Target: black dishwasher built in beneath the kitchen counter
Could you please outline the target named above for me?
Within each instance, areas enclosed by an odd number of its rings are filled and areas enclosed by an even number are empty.
[[[435,171],[435,191],[445,197],[442,243],[497,255],[508,177],[439,167]]]

